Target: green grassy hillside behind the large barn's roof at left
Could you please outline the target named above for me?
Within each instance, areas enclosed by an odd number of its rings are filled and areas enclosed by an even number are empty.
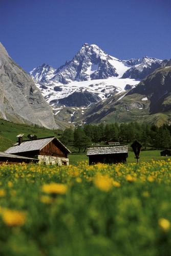
[[[35,134],[37,138],[55,136],[59,137],[60,130],[49,130],[44,127],[29,126],[27,124],[17,124],[0,119],[0,151],[5,151],[16,141],[16,136],[24,133],[24,139],[28,139],[28,134]]]

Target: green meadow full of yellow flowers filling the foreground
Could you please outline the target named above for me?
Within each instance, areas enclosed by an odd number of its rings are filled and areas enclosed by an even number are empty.
[[[0,166],[0,255],[171,255],[171,161]]]

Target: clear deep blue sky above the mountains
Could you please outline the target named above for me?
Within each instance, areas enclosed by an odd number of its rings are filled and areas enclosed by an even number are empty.
[[[170,58],[169,0],[0,0],[0,41],[27,72],[84,42],[119,59]]]

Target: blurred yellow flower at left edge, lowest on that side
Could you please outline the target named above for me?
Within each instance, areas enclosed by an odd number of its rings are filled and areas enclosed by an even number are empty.
[[[7,226],[22,226],[26,221],[24,212],[10,209],[3,211],[2,218]]]

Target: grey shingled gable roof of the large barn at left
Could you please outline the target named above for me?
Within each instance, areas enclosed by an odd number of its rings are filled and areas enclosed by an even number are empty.
[[[8,148],[8,150],[6,150],[5,153],[16,154],[16,153],[21,153],[21,152],[41,150],[49,142],[51,142],[54,139],[57,140],[57,142],[65,149],[65,151],[67,153],[71,153],[71,151],[65,145],[63,145],[60,140],[58,140],[55,137],[36,139],[36,140],[26,140],[26,141],[23,141],[23,143],[21,143],[20,145],[18,145],[18,142],[17,142],[13,146]]]

